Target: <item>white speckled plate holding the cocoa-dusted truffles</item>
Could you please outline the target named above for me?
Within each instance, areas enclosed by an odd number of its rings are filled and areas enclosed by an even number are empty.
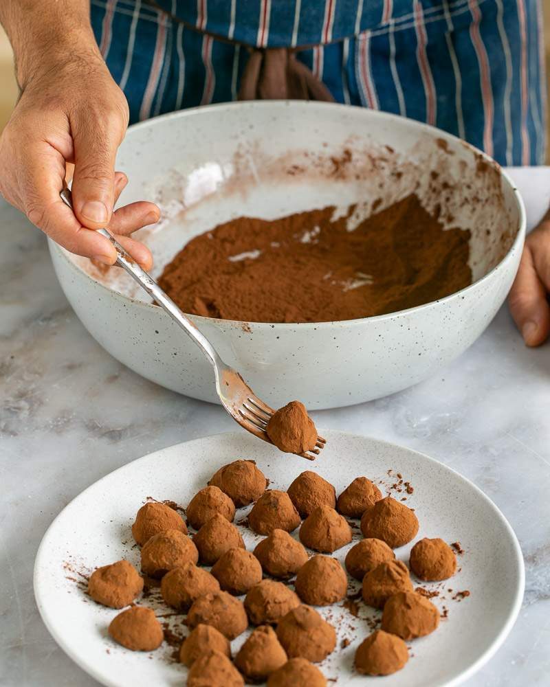
[[[283,455],[243,432],[226,433],[151,453],[87,488],[58,515],[36,556],[36,602],[58,644],[105,685],[183,684],[186,668],[170,662],[173,649],[166,644],[153,653],[134,653],[111,641],[107,625],[118,611],[91,602],[75,580],[78,572],[121,558],[139,564],[130,526],[146,497],[187,504],[221,465],[236,458],[254,458],[273,488],[287,488],[306,469],[320,473],[336,486],[337,493],[358,475],[382,480],[383,492],[384,485],[391,488],[398,481],[396,473],[410,482],[414,493],[394,495],[407,496],[406,504],[415,508],[420,521],[418,537],[460,541],[464,553],[459,556],[460,572],[450,581],[423,585],[439,590],[434,602],[441,610],[448,609],[448,618],[433,635],[409,642],[408,664],[384,679],[384,686],[456,685],[481,668],[509,633],[523,596],[521,550],[505,517],[471,482],[426,455],[363,436],[333,431],[325,436],[327,448],[313,464]],[[390,469],[392,476],[387,473]],[[237,513],[238,521],[244,511]],[[259,539],[247,530],[249,550]],[[411,545],[398,549],[397,556],[408,561]],[[336,552],[341,561],[348,548]],[[470,596],[452,599],[465,589]],[[157,607],[153,598],[144,603]],[[370,632],[366,621],[342,607],[321,612],[331,616],[338,646],[344,638],[352,641],[347,648],[333,652],[320,668],[327,677],[338,677],[340,685],[366,681],[353,674],[355,649]],[[366,607],[361,607],[360,613],[374,615]],[[170,622],[184,633],[181,618],[170,618]],[[242,641],[243,636],[235,640],[233,648]]]

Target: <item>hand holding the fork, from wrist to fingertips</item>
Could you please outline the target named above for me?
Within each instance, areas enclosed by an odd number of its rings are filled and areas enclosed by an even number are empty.
[[[113,213],[127,183],[114,170],[128,106],[99,54],[65,56],[35,71],[0,137],[0,193],[67,250],[113,264],[116,251],[94,231],[107,227],[144,269],[151,252],[129,234],[158,221],[154,203]],[[74,163],[74,212],[59,196]]]

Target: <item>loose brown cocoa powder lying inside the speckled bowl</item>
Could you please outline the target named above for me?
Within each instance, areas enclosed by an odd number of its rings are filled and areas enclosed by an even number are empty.
[[[443,229],[414,194],[350,231],[354,211],[235,219],[190,240],[159,284],[186,313],[244,322],[383,315],[471,284],[470,232]]]

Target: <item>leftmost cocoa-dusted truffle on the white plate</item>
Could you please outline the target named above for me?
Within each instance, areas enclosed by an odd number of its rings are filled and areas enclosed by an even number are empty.
[[[103,565],[91,574],[88,594],[110,608],[128,606],[143,589],[143,578],[128,561]]]

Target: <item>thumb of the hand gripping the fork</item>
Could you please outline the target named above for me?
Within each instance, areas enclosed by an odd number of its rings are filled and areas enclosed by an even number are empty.
[[[115,202],[115,157],[122,136],[118,127],[85,122],[74,131],[74,214],[88,229],[109,224]]]

